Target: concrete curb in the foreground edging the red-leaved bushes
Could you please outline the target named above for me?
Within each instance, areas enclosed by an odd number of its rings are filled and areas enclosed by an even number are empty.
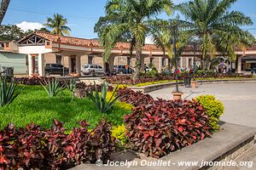
[[[241,125],[222,122],[220,130],[212,135],[212,138],[201,140],[196,144],[192,144],[183,150],[177,150],[171,154],[160,158],[160,161],[230,161],[236,160],[237,156],[247,152],[254,145],[254,135],[256,129],[253,127],[244,127]],[[139,156],[139,154],[137,154]],[[137,159],[143,159],[137,158]],[[136,159],[136,161],[137,161]],[[149,159],[152,161],[152,159]],[[153,161],[159,161],[154,160]],[[255,166],[255,165],[254,165]],[[72,170],[119,170],[120,167],[96,166],[94,164],[83,164],[73,167]],[[200,167],[121,167],[131,170],[197,170]],[[205,169],[205,168],[204,168]],[[215,169],[215,167],[214,167]],[[221,168],[220,168],[221,169]]]

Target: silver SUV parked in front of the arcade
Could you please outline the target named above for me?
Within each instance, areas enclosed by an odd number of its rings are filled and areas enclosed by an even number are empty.
[[[84,75],[104,75],[105,71],[101,65],[84,64],[82,65],[81,72]]]

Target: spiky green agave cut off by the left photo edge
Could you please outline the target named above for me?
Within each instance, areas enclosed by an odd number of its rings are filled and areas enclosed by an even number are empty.
[[[6,76],[0,76],[0,107],[11,104],[18,97],[16,86],[14,80],[8,83]]]

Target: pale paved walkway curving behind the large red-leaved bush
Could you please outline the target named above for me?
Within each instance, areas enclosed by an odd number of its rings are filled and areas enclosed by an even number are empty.
[[[256,127],[256,83],[203,84],[199,88],[180,87],[183,99],[192,99],[202,94],[212,94],[225,106],[221,120],[249,127]],[[164,88],[149,93],[161,99],[172,99],[174,88]]]

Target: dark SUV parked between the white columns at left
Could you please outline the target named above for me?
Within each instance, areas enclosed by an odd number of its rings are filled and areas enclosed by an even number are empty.
[[[68,75],[68,68],[60,64],[46,64],[44,71],[46,76],[49,76],[51,74],[57,74],[61,76]]]

